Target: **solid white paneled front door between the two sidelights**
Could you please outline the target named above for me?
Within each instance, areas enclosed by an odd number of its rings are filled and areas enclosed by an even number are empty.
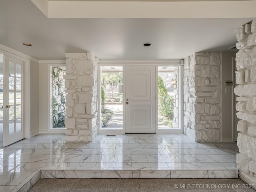
[[[156,66],[125,66],[125,132],[156,132]]]

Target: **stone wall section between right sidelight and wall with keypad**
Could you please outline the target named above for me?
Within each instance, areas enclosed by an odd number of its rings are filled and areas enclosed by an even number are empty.
[[[184,59],[184,132],[195,141],[219,141],[221,53],[198,52]]]

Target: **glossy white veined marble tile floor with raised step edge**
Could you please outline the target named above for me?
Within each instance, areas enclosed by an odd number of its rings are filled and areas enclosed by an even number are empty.
[[[39,134],[0,149],[0,192],[28,191],[39,178],[238,178],[237,153],[236,143],[183,134]]]

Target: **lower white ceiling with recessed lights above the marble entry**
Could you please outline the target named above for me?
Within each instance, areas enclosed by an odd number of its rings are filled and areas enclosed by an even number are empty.
[[[39,60],[86,51],[100,59],[182,59],[200,51],[231,51],[235,29],[251,20],[47,18],[30,0],[0,0],[0,44]],[[152,45],[144,47],[148,42]]]

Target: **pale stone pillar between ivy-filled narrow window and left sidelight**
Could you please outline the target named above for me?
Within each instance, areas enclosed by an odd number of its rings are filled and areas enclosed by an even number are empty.
[[[97,135],[97,64],[98,58],[87,53],[66,53],[67,141],[91,142]]]

